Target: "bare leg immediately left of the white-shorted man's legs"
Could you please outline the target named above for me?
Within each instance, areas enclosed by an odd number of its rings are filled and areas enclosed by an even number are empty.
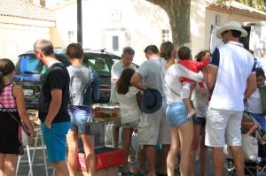
[[[206,176],[207,146],[205,145],[205,127],[201,127],[200,137],[200,176]]]

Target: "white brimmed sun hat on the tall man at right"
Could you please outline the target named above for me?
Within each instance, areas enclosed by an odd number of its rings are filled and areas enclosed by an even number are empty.
[[[223,25],[223,27],[221,27],[220,29],[217,30],[217,33],[216,33],[217,37],[219,39],[222,39],[223,32],[228,31],[228,30],[237,30],[237,31],[241,32],[240,37],[246,37],[247,36],[246,30],[241,27],[239,22],[229,21],[225,25]]]

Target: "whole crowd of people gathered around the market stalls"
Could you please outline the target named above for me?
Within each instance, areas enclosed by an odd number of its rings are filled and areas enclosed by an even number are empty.
[[[200,51],[195,60],[188,47],[163,42],[158,49],[148,45],[146,60],[132,64],[135,50],[125,47],[121,60],[112,66],[111,103],[119,103],[121,121],[113,126],[113,147],[118,147],[122,127],[124,165],[121,175],[133,175],[128,165],[133,132],[138,135],[138,175],[194,176],[200,156],[200,176],[206,176],[207,146],[213,149],[215,176],[223,175],[223,145],[230,146],[237,175],[244,175],[241,149],[241,119],[249,112],[265,130],[261,88],[265,74],[255,69],[253,55],[239,42],[247,32],[238,22],[226,23],[217,31],[224,44]],[[54,57],[52,43],[40,39],[35,56],[48,67],[39,101],[43,141],[48,159],[59,176],[76,175],[78,138],[81,136],[88,175],[95,175],[94,135],[87,133],[92,121],[91,105],[99,98],[98,73],[82,65],[80,43],[66,48],[71,65]],[[12,83],[15,66],[0,59],[0,175],[15,175],[20,142],[19,125],[10,113],[31,126],[23,90]],[[257,82],[257,83],[256,83]],[[244,102],[246,102],[244,104]],[[67,142],[67,160],[66,160]],[[160,168],[156,169],[156,146],[161,146]],[[178,159],[178,165],[176,165]]]

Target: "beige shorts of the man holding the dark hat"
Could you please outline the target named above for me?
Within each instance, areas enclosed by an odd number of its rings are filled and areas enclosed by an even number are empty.
[[[143,113],[138,125],[139,144],[156,145],[170,144],[170,127],[166,119],[165,101],[158,111],[150,114]]]

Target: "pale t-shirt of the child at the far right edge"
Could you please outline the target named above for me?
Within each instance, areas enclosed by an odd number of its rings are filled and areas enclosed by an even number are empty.
[[[246,111],[254,114],[262,114],[262,98],[259,88],[256,88],[254,93],[246,100]]]

